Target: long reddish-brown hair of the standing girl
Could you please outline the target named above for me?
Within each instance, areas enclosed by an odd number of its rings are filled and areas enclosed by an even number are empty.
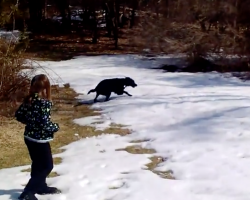
[[[24,103],[30,104],[35,93],[37,93],[40,97],[51,101],[51,85],[45,74],[39,74],[32,78],[29,95],[24,98]]]

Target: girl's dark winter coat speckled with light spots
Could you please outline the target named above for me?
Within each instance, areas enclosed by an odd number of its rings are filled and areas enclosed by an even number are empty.
[[[17,121],[25,124],[24,137],[28,140],[44,143],[53,140],[54,133],[59,130],[57,123],[50,121],[52,102],[32,97],[31,104],[21,104],[15,113]]]

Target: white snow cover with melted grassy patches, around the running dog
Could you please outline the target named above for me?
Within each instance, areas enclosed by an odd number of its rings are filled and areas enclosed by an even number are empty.
[[[46,200],[249,200],[250,83],[217,73],[162,73],[152,70],[162,60],[133,56],[77,57],[62,62],[40,62],[59,83],[69,82],[87,93],[105,78],[130,76],[133,96],[112,94],[108,102],[82,103],[102,109],[100,118],[81,118],[81,125],[127,125],[131,135],[102,135],[74,142],[58,156],[61,176],[50,184],[63,194],[37,196]],[[52,69],[53,71],[49,70]],[[55,73],[56,74],[55,74]],[[100,100],[104,98],[100,97]],[[59,134],[59,133],[58,133]],[[139,143],[157,151],[135,155],[115,151]],[[176,180],[145,170],[150,156],[166,159],[157,170],[172,170]],[[26,184],[29,166],[0,170],[0,200],[16,198]]]

